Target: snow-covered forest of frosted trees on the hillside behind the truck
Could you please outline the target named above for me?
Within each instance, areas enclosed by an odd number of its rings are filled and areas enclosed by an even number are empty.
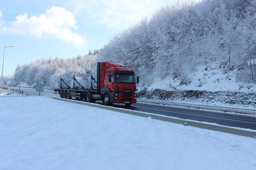
[[[86,87],[96,63],[109,61],[133,68],[139,88],[250,89],[256,83],[255,31],[256,0],[178,2],[118,33],[100,50],[18,65],[6,82],[18,85],[21,77],[28,86],[41,80],[53,88],[60,77],[71,83],[75,76]]]

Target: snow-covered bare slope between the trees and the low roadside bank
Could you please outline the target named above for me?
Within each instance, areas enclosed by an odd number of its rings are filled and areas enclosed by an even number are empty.
[[[180,85],[180,81],[174,79],[172,75],[161,79],[156,77],[154,82],[148,87],[148,90],[155,88],[165,90],[206,90],[206,91],[237,91],[237,92],[255,92],[256,85],[253,83],[237,82],[235,72],[230,72],[228,75],[223,74],[217,63],[207,66],[199,65],[196,71],[191,71],[188,74],[191,83]]]

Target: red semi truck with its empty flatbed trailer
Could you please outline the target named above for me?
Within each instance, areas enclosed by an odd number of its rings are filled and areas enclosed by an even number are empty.
[[[126,67],[124,64],[98,62],[97,63],[97,81],[91,75],[91,84],[89,88],[84,88],[73,77],[73,87],[65,83],[60,78],[60,88],[55,88],[60,98],[84,100],[89,103],[102,101],[104,105],[112,103],[124,103],[131,106],[136,103],[136,83],[139,83],[134,77],[134,71]]]

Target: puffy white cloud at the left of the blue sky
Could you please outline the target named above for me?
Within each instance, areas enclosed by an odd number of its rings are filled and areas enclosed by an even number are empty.
[[[44,35],[50,35],[60,40],[75,44],[82,47],[86,43],[85,37],[71,31],[76,29],[75,16],[64,8],[53,6],[39,16],[31,16],[28,14],[16,16],[14,21],[6,24],[0,11],[0,34],[11,35],[32,35],[41,38]]]

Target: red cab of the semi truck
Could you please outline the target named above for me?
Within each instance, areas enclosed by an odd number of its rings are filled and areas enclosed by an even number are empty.
[[[137,77],[137,83],[139,79]],[[123,64],[102,62],[100,64],[100,93],[103,103],[136,103],[136,80],[134,71]]]

